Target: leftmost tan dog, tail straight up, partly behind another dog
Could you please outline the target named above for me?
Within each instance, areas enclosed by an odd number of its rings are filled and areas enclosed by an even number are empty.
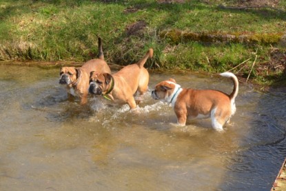
[[[87,61],[81,68],[61,68],[59,83],[66,86],[69,99],[72,96],[79,96],[81,104],[87,102],[90,72],[92,71],[111,73],[108,64],[104,61],[101,38],[99,38],[99,59]]]

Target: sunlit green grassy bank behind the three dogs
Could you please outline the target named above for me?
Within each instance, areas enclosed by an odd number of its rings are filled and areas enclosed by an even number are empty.
[[[245,8],[237,2],[0,0],[0,59],[86,61],[96,57],[100,36],[108,63],[138,61],[152,47],[148,68],[223,72],[245,61],[233,71],[247,77],[255,63],[251,79],[279,82],[285,77],[286,49],[280,44],[286,3]],[[163,35],[171,30],[181,33]],[[186,40],[185,34],[257,40]]]

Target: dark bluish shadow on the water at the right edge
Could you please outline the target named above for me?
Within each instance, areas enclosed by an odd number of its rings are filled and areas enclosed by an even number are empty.
[[[286,157],[286,93],[258,94],[245,148],[229,161],[221,190],[270,190]]]

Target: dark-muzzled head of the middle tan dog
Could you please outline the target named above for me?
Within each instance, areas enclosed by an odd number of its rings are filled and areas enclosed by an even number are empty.
[[[88,92],[91,94],[105,94],[112,86],[112,75],[108,73],[90,72],[90,88]]]

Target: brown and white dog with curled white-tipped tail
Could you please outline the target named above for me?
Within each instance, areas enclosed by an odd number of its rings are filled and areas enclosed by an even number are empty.
[[[229,123],[236,112],[235,99],[238,94],[238,79],[231,72],[220,74],[230,77],[234,82],[231,94],[218,90],[194,90],[181,88],[174,79],[162,81],[152,91],[153,99],[172,103],[179,125],[185,125],[187,119],[212,119],[212,127],[223,130],[223,125]]]

